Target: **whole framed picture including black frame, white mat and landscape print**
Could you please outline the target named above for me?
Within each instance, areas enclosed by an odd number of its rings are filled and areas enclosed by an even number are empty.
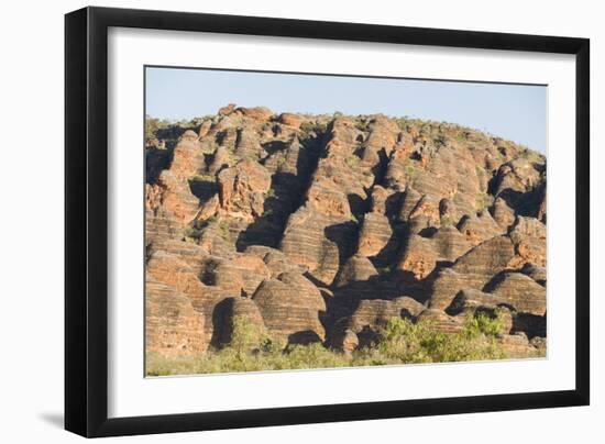
[[[588,40],[65,26],[67,430],[588,403]]]

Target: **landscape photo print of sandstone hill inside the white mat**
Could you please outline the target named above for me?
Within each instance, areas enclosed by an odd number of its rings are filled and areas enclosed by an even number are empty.
[[[546,86],[144,76],[146,376],[546,357]]]

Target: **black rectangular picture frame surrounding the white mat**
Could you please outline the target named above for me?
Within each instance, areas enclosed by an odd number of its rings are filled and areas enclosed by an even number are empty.
[[[575,388],[516,395],[109,419],[108,29],[199,31],[575,56]],[[114,436],[587,406],[590,41],[184,12],[85,8],[65,16],[65,428]]]

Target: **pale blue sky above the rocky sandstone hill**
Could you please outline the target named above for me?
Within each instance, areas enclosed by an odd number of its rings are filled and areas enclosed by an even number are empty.
[[[182,120],[227,103],[275,112],[410,116],[471,126],[546,153],[543,86],[146,68],[146,110]]]

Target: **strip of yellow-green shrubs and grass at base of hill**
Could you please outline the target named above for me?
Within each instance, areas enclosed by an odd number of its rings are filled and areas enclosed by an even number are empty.
[[[429,321],[394,318],[376,343],[346,355],[320,343],[286,345],[266,329],[235,318],[228,346],[177,358],[147,354],[146,369],[148,376],[170,376],[504,359],[508,355],[497,341],[502,329],[498,317],[485,314],[468,318],[457,333],[435,331]]]

